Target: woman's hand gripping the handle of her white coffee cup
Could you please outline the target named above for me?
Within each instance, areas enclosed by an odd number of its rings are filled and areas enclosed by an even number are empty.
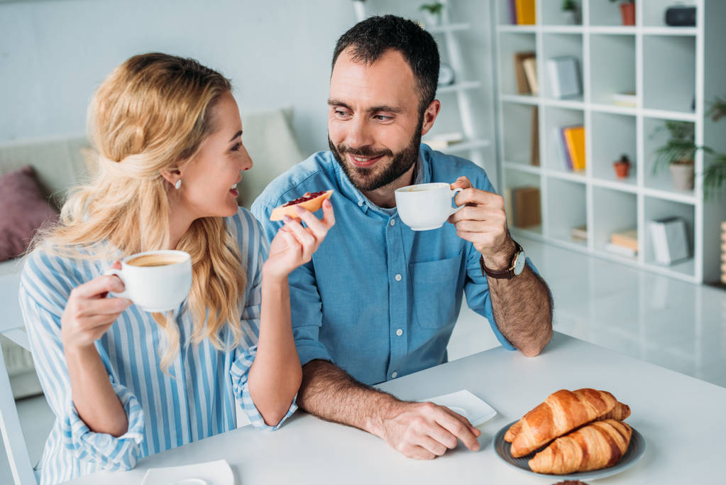
[[[121,263],[116,261],[111,267],[121,269]],[[71,290],[60,319],[64,349],[90,347],[106,333],[121,312],[131,306],[126,298],[106,298],[108,292],[121,293],[123,288],[123,282],[109,274]]]

